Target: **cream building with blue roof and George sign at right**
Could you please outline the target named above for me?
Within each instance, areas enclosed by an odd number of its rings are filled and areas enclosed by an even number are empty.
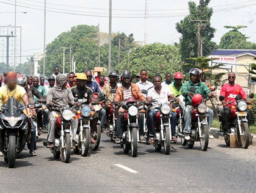
[[[256,82],[251,82],[248,72],[250,64],[256,63],[256,60],[253,60],[256,57],[256,50],[217,49],[212,51],[209,57],[215,58],[212,60],[212,65],[223,64],[220,69],[214,70],[213,73],[233,71],[236,73],[236,83],[248,92],[256,92]]]

